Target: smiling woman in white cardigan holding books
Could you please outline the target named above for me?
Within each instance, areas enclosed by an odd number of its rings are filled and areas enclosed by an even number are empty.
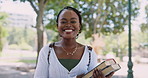
[[[76,41],[81,21],[80,12],[73,7],[59,12],[56,22],[61,40],[41,49],[34,78],[81,78],[97,65],[92,48]],[[106,78],[100,70],[95,70],[93,77]]]

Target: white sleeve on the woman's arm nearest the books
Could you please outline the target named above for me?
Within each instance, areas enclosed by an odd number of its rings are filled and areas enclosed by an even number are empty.
[[[97,66],[98,63],[98,57],[97,54],[94,50],[91,51],[91,58],[90,58],[90,65],[88,67],[88,71],[92,70],[93,68],[95,68]]]

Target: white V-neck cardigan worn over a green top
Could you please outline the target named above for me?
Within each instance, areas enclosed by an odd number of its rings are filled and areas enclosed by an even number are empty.
[[[48,64],[48,52],[51,50]],[[91,61],[89,67],[89,52],[91,52]],[[35,70],[34,78],[76,78],[77,75],[85,74],[97,65],[97,55],[92,50],[85,50],[80,62],[70,71],[68,71],[58,60],[53,48],[49,45],[44,46],[39,54],[38,64]]]

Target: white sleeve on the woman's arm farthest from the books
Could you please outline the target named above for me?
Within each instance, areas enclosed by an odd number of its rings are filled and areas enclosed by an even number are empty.
[[[44,46],[41,49],[38,57],[38,63],[35,70],[34,78],[48,78],[48,74],[49,74],[48,60],[47,60],[48,52],[49,52],[48,46]]]

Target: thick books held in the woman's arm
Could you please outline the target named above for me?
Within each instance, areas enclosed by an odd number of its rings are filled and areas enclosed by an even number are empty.
[[[99,65],[97,65],[94,69],[96,69],[96,68],[100,69],[105,76],[121,69],[120,65],[117,64],[114,59],[107,59],[107,60],[101,62]],[[91,71],[86,73],[82,78],[92,78],[94,69],[92,69]]]

